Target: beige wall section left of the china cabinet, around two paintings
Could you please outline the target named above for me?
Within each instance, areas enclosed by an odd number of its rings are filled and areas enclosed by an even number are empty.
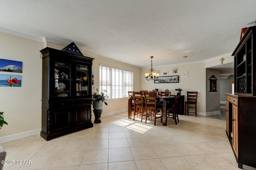
[[[22,61],[21,87],[0,87],[0,111],[9,125],[0,129],[0,137],[41,128],[43,44],[0,32],[0,58]],[[1,142],[1,141],[0,141]]]

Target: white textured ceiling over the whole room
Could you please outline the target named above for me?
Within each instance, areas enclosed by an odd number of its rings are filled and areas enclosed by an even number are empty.
[[[0,31],[74,41],[143,68],[150,56],[164,66],[232,53],[255,7],[256,0],[1,0]]]

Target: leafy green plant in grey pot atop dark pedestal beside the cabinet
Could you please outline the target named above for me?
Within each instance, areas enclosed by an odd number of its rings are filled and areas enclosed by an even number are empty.
[[[101,93],[94,92],[92,93],[92,107],[94,110],[101,110],[103,107],[103,102],[105,105],[108,105],[107,100],[109,100],[106,90],[102,90]]]

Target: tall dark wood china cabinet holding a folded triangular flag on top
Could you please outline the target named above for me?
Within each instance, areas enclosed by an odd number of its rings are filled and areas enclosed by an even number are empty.
[[[46,47],[42,53],[42,131],[46,141],[93,127],[92,61]]]

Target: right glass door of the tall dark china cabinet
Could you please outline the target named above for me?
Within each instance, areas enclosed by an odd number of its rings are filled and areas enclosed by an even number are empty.
[[[76,64],[76,96],[87,96],[88,94],[88,66]]]

